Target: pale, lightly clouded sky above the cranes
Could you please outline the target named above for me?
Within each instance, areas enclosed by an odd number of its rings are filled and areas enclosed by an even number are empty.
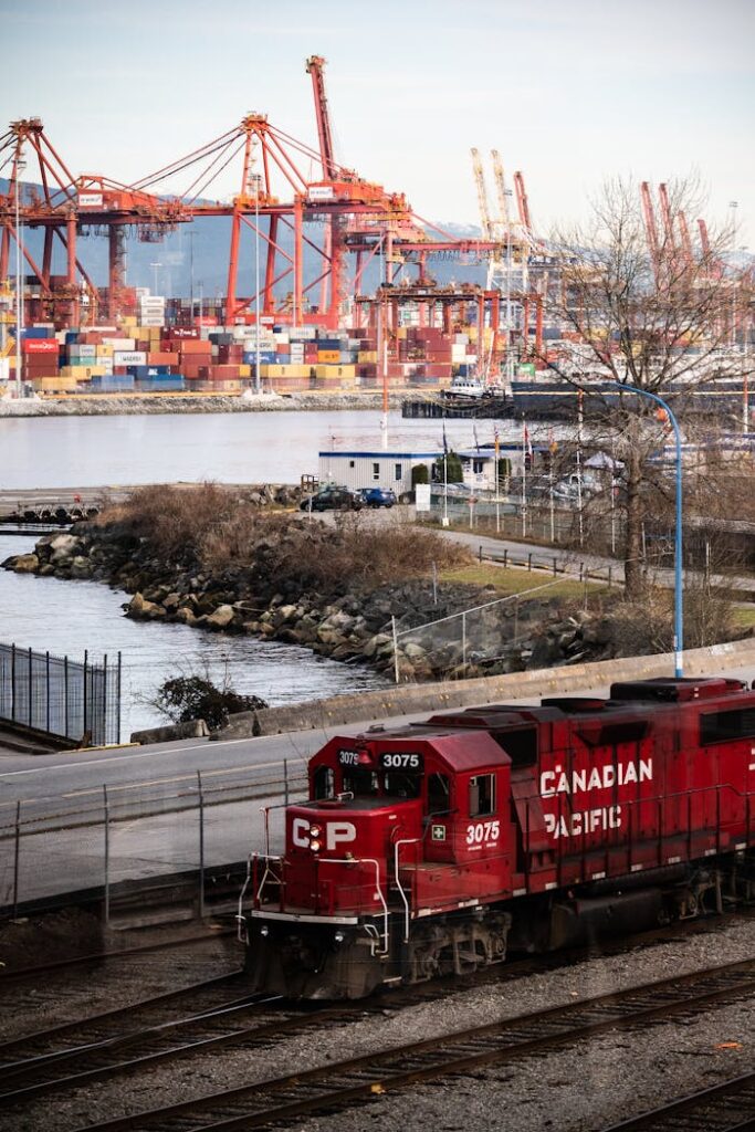
[[[0,33],[2,130],[41,117],[75,174],[137,180],[250,110],[317,147],[321,54],[337,158],[421,216],[479,223],[477,146],[542,234],[606,177],[694,170],[755,251],[754,0],[0,0]]]

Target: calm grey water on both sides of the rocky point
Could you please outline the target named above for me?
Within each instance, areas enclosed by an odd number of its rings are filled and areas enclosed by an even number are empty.
[[[0,490],[160,483],[295,483],[316,473],[318,453],[376,449],[380,414],[265,412],[154,417],[0,418]],[[512,423],[506,422],[512,429]],[[480,443],[492,421],[478,422]],[[504,422],[499,424],[501,435]],[[448,444],[475,443],[471,421],[447,421]],[[440,421],[389,420],[392,451],[443,447]],[[32,537],[0,534],[0,561],[33,548]],[[0,571],[0,641],[80,660],[122,654],[121,738],[162,722],[149,700],[169,676],[228,675],[238,691],[272,704],[317,700],[377,687],[381,677],[293,645],[201,633],[185,625],[123,617],[120,591],[96,582],[65,582]]]

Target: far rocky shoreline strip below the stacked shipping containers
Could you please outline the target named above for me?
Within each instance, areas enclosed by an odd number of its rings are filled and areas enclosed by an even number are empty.
[[[392,394],[391,408],[397,409],[403,396]],[[0,397],[1,417],[134,417],[166,413],[259,413],[311,412],[325,410],[380,409],[380,393],[277,393],[261,394],[172,394],[157,393],[72,395],[55,400]]]

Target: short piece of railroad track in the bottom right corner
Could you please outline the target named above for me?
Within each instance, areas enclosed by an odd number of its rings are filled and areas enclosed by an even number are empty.
[[[701,1089],[603,1132],[753,1132],[755,1129],[755,1073]]]

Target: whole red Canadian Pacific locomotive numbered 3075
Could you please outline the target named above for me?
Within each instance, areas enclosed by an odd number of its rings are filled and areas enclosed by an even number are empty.
[[[331,739],[240,909],[257,987],[357,998],[721,908],[755,872],[755,692],[615,684]],[[249,907],[247,907],[249,904]]]

